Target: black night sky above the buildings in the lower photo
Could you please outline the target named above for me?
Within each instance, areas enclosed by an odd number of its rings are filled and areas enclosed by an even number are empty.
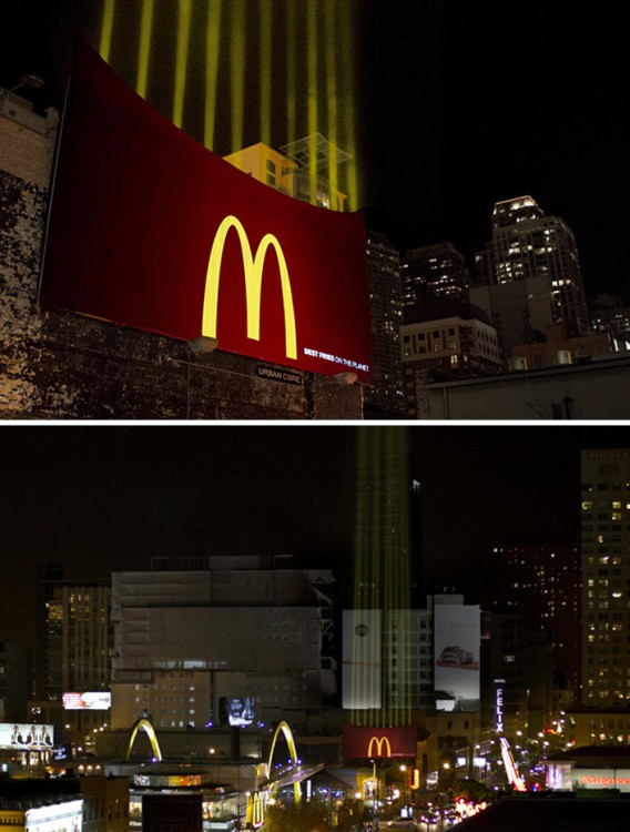
[[[0,429],[0,639],[32,638],[34,565],[68,578],[154,555],[296,554],[352,562],[357,430],[378,426],[7,426]],[[580,449],[624,426],[396,426],[421,489],[425,589],[484,595],[491,548],[573,542]]]

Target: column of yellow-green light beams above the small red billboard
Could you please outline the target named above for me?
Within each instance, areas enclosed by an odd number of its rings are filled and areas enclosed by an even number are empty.
[[[354,726],[409,726],[417,486],[406,429],[357,433],[354,608],[344,616],[344,708]]]

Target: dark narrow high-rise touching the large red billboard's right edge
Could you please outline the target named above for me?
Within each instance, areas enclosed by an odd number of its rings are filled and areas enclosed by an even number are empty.
[[[364,393],[365,415],[367,418],[399,418],[405,409],[400,364],[400,257],[385,234],[368,231],[367,267],[373,384]]]

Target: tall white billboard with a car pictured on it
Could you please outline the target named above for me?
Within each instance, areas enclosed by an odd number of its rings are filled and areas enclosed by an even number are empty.
[[[458,710],[479,708],[480,621],[478,606],[434,608],[435,689],[453,697]]]

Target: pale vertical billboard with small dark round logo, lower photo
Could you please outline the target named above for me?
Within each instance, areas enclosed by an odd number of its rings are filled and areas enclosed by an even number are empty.
[[[380,610],[344,610],[343,708],[382,706]]]

